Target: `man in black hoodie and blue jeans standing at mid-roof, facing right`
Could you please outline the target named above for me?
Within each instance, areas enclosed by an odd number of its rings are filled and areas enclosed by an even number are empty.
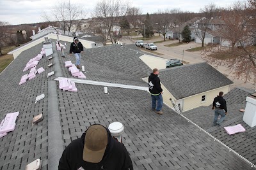
[[[163,89],[161,88],[160,78],[158,77],[158,75],[158,69],[153,69],[153,73],[151,73],[150,76],[148,77],[148,89],[152,98],[151,110],[156,111],[156,113],[159,115],[162,115],[163,111],[161,111],[161,109],[163,106]]]

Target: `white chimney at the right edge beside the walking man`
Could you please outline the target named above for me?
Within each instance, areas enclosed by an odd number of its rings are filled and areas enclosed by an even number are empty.
[[[256,125],[256,93],[246,97],[243,121],[250,127],[254,127]]]

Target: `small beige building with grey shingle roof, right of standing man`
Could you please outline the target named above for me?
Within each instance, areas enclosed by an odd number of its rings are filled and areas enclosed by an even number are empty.
[[[165,102],[172,106],[168,101],[172,98],[183,111],[209,106],[216,93],[227,94],[233,83],[206,62],[163,69],[160,73],[161,83],[170,92]]]

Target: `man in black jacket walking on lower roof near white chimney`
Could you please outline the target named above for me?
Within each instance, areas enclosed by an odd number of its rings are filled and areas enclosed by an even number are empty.
[[[220,92],[219,96],[215,97],[212,103],[212,110],[215,108],[213,125],[220,125],[228,113],[226,101],[222,96],[223,92]],[[220,120],[218,120],[219,115],[221,115]]]

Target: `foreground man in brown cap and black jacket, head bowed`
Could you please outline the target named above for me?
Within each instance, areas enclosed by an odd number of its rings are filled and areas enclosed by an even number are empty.
[[[59,170],[133,170],[125,146],[102,125],[92,125],[62,153]]]

